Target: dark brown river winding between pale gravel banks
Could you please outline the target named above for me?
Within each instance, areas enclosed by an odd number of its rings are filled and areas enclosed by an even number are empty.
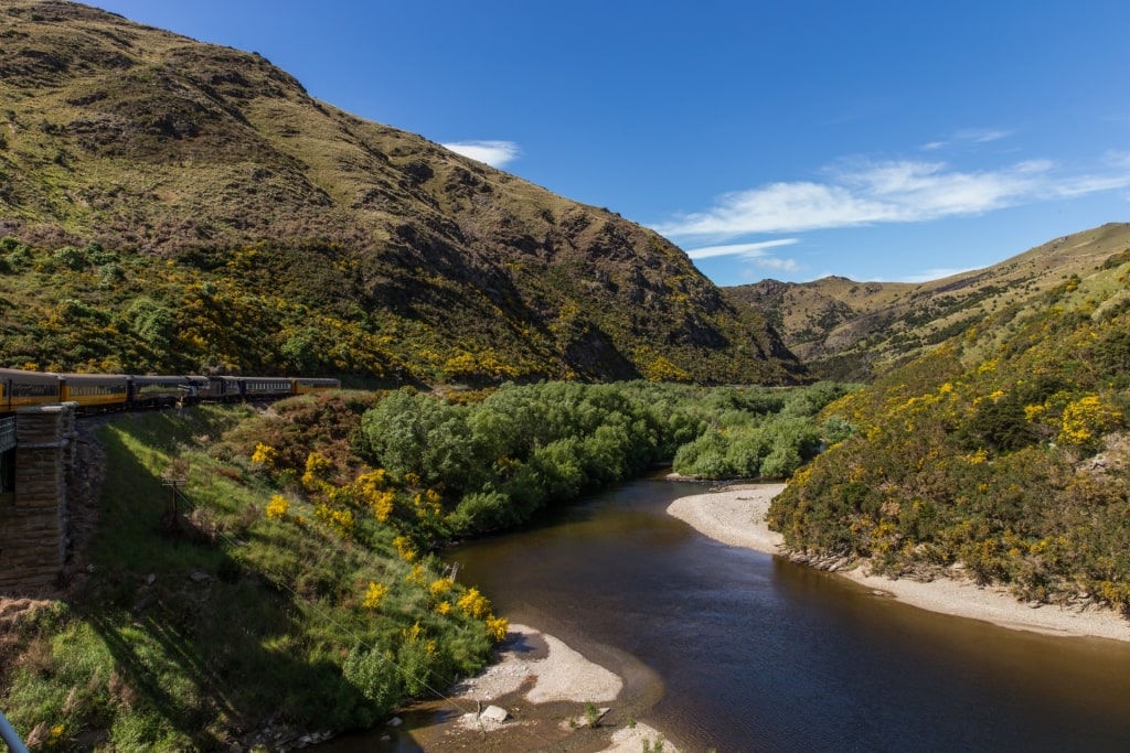
[[[1130,645],[925,612],[719,544],[664,511],[702,491],[632,482],[449,558],[512,622],[624,674],[624,702],[680,750],[1130,750]]]

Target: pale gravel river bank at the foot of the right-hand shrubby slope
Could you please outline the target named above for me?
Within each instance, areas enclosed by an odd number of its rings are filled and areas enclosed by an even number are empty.
[[[733,485],[683,497],[667,511],[715,541],[776,554],[782,536],[768,529],[765,515],[770,502],[783,489],[784,484]],[[1111,610],[1077,611],[1046,604],[1034,608],[1016,601],[1003,588],[981,587],[968,580],[892,580],[869,575],[866,564],[836,575],[870,588],[877,596],[894,597],[932,612],[984,620],[1014,630],[1130,641],[1130,621]]]

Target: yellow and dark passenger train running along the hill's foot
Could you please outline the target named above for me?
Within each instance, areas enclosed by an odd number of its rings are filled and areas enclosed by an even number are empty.
[[[59,403],[75,403],[81,413],[97,413],[279,400],[340,388],[341,380],[330,377],[56,374],[0,368],[0,413]]]

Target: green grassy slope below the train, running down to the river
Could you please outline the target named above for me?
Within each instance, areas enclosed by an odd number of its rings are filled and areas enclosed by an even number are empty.
[[[316,403],[297,406],[324,417]],[[441,576],[406,561],[391,534],[342,536],[297,501],[282,519],[264,514],[266,476],[220,441],[249,418],[197,408],[99,431],[89,567],[66,602],[18,623],[20,658],[3,666],[0,706],[33,746],[211,750],[266,726],[367,726],[423,683],[444,688],[485,660],[483,620],[440,614],[428,586]],[[330,441],[324,427],[310,436]],[[186,479],[175,528],[165,474]],[[388,588],[379,606],[366,603],[373,583]],[[344,678],[355,659],[372,671]]]

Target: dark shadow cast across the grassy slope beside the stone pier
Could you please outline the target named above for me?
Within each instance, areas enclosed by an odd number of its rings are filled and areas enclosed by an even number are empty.
[[[306,605],[234,559],[234,540],[193,528],[183,506],[171,529],[171,490],[127,446],[128,431],[102,436],[96,569],[75,605],[131,689],[129,711],[119,713],[146,715],[201,750],[266,725],[364,723],[372,704],[324,658],[327,639],[301,620]]]

